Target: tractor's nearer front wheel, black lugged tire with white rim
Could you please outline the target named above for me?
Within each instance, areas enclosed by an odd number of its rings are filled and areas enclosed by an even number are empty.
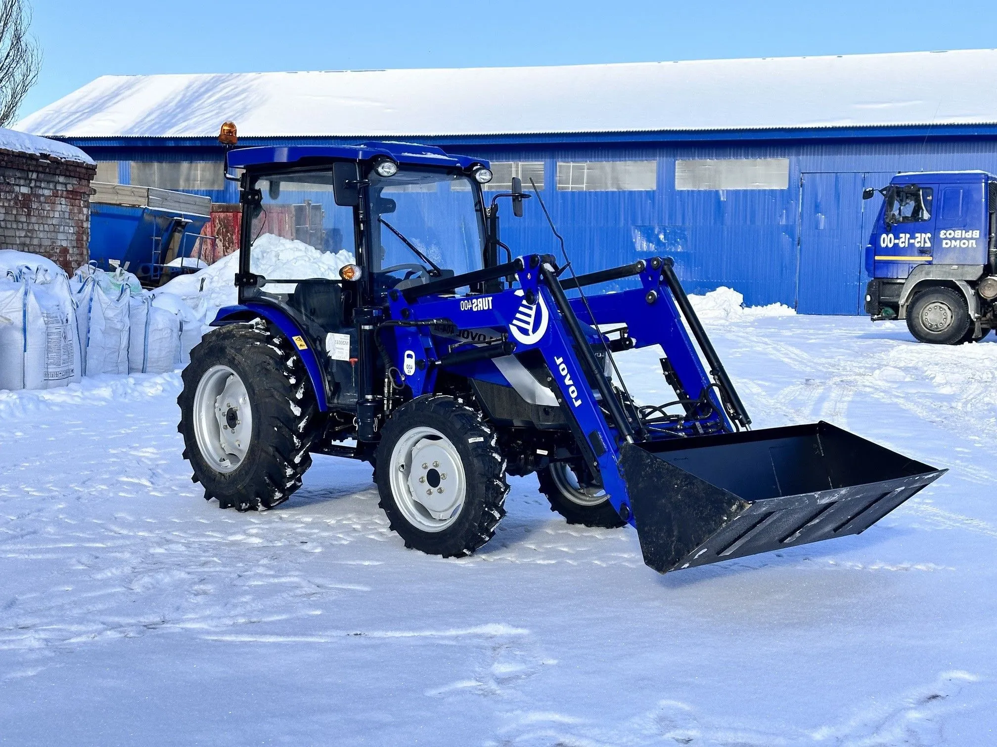
[[[505,460],[495,432],[454,397],[429,394],[392,413],[374,470],[381,508],[407,548],[471,555],[505,515]]]

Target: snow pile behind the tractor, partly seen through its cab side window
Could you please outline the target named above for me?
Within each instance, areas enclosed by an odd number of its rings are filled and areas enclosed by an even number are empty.
[[[320,252],[313,246],[264,233],[252,245],[252,271],[266,278],[329,278],[339,280],[339,271],[356,262],[345,249],[333,254]],[[239,269],[239,253],[233,252],[192,275],[173,278],[157,295],[164,293],[182,298],[195,310],[197,318],[210,323],[222,306],[238,303],[235,273]],[[273,293],[289,293],[293,286],[267,286]]]

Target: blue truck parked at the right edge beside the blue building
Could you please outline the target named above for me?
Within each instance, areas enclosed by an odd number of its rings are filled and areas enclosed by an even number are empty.
[[[865,312],[902,319],[922,343],[959,345],[997,328],[997,177],[985,171],[899,173],[883,197],[865,270]]]

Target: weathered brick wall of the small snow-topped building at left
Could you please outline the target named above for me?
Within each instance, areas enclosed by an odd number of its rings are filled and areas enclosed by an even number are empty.
[[[90,260],[97,167],[0,149],[0,249],[41,254],[68,273]]]

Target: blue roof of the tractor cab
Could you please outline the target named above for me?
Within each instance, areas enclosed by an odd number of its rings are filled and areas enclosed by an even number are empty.
[[[467,155],[450,155],[433,145],[391,140],[370,140],[358,145],[288,145],[277,147],[241,147],[228,152],[228,165],[233,168],[265,165],[267,163],[294,163],[303,158],[328,158],[330,160],[370,160],[388,156],[398,163],[414,166],[441,166],[443,168],[470,168],[480,164],[488,166],[482,158]]]

